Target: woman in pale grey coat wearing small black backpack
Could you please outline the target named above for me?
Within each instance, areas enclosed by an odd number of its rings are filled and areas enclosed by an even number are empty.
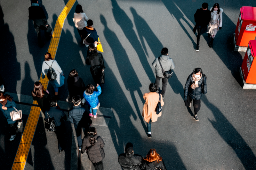
[[[44,62],[42,66],[42,78],[45,78],[45,74],[48,72],[50,66],[53,70],[55,70],[56,73],[56,79],[55,80],[49,80],[49,82],[52,84],[54,88],[55,95],[58,95],[59,87],[64,84],[64,74],[57,63],[56,60],[52,59],[52,55],[50,53],[45,53],[44,55]]]

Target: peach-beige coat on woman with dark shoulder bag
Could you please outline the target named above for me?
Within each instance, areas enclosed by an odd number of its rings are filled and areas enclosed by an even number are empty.
[[[161,106],[164,106],[164,101],[162,94],[161,96]],[[142,116],[144,117],[144,120],[149,123],[150,118],[152,122],[156,122],[157,118],[162,115],[162,112],[160,112],[158,115],[156,115],[156,106],[159,101],[159,93],[157,92],[149,92],[145,93],[143,95],[144,100],[146,100],[143,111],[142,111]]]

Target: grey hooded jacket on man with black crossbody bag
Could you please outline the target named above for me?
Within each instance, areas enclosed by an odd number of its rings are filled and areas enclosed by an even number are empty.
[[[169,71],[175,68],[173,60],[168,55],[160,55],[160,62],[163,66],[164,71]],[[158,57],[152,63],[153,67],[156,67],[156,76],[164,78],[162,68],[159,64]]]

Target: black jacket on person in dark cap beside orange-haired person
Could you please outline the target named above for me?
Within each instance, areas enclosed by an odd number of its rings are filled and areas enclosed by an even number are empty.
[[[118,157],[118,162],[124,170],[141,170],[142,156],[138,154],[121,153]]]

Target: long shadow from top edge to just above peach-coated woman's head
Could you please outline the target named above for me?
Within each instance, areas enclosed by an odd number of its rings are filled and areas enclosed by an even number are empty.
[[[128,39],[128,41],[131,43],[132,47],[136,51],[140,63],[142,64],[142,67],[144,68],[146,74],[148,75],[148,78],[151,82],[155,81],[155,75],[148,63],[147,56],[145,55],[145,52],[141,46],[140,41],[138,40],[138,37],[135,33],[135,31],[132,29],[133,24],[131,19],[127,16],[127,14],[124,12],[123,9],[119,7],[116,0],[111,0],[112,6],[113,6],[113,15],[116,20],[116,23],[121,27],[121,29],[124,32],[124,35]]]

